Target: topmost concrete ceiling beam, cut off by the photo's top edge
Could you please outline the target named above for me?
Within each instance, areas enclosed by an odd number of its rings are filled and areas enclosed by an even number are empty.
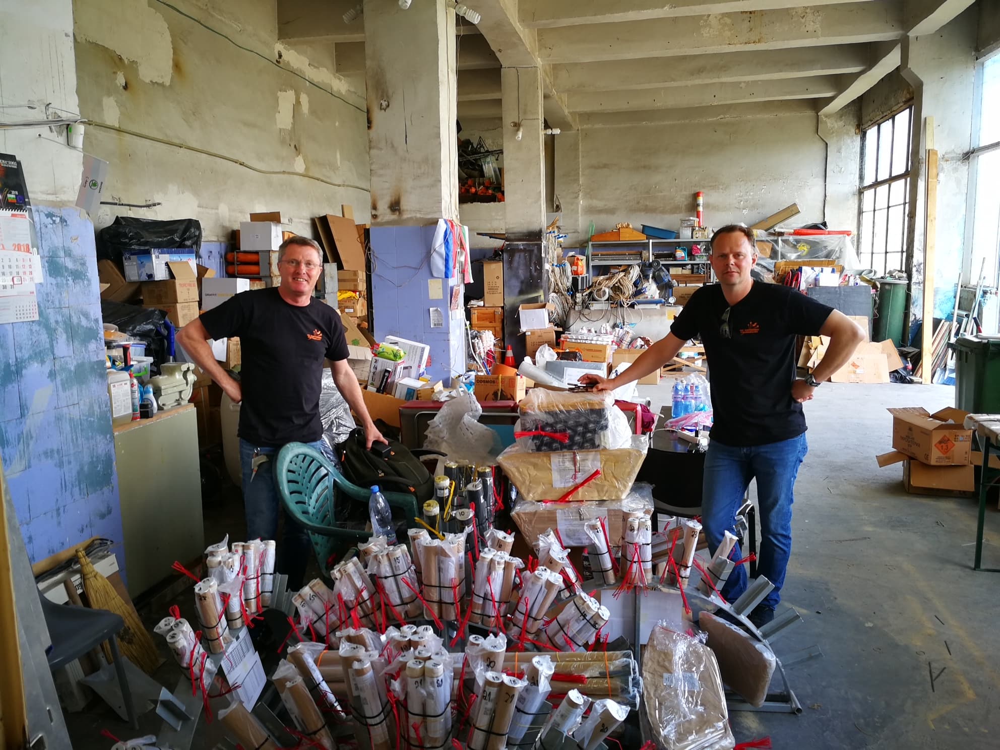
[[[872,2],[872,0],[854,0]],[[834,5],[844,0],[810,0],[811,6]],[[654,18],[703,16],[710,13],[744,13],[803,5],[803,0],[520,0],[518,13],[527,28],[550,29],[588,23],[648,21]]]

